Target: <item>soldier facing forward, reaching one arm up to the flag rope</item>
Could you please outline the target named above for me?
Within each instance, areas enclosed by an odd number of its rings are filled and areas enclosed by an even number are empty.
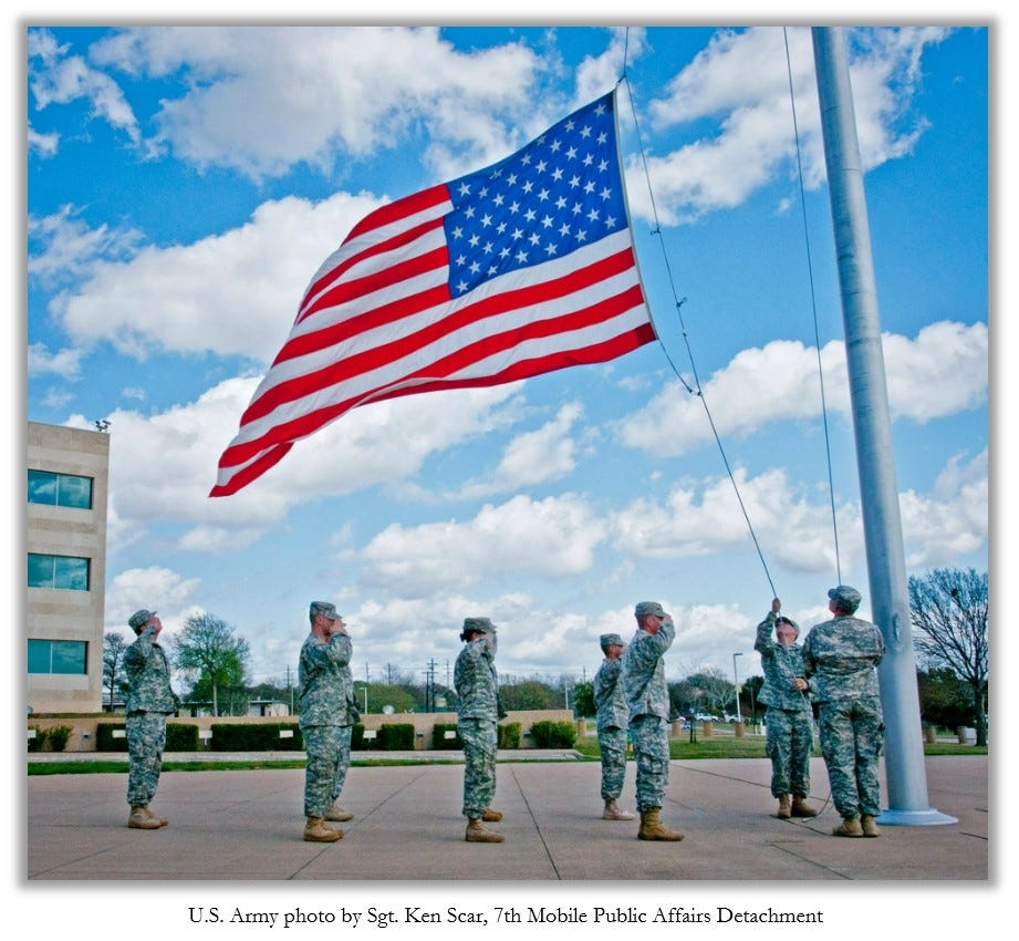
[[[781,607],[778,598],[771,601],[768,617],[757,625],[753,649],[761,655],[765,670],[765,685],[757,699],[768,706],[766,752],[771,758],[771,795],[779,799],[776,816],[788,820],[815,817],[818,811],[807,803],[813,713],[807,696],[803,649],[797,643],[800,629],[796,621],[777,617]]]

